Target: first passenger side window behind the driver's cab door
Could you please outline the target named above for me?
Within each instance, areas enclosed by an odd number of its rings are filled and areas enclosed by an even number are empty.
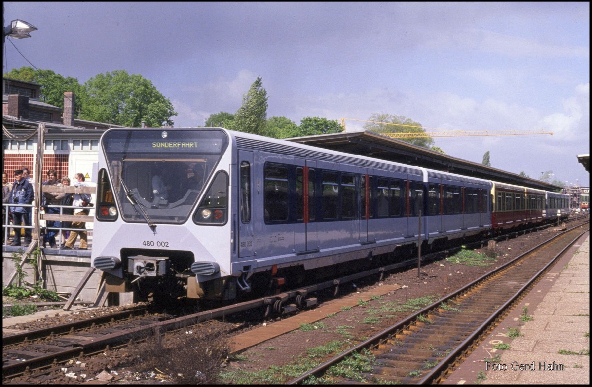
[[[288,220],[288,168],[285,165],[265,165],[263,208],[265,222]]]

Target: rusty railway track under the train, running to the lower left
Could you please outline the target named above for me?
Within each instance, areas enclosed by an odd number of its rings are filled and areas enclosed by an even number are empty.
[[[435,259],[428,256],[425,258],[426,260]],[[46,330],[9,335],[3,338],[3,378],[12,378],[25,372],[42,372],[42,369],[47,369],[47,367],[50,367],[56,361],[60,362],[64,359],[72,359],[81,354],[100,353],[105,348],[123,346],[131,338],[147,337],[157,332],[185,328],[189,325],[198,324],[210,319],[223,318],[224,316],[230,316],[241,311],[263,307],[265,308],[266,316],[291,314],[291,312],[316,305],[317,300],[310,297],[313,292],[334,288],[334,294],[336,295],[339,292],[340,284],[375,274],[382,276],[382,274],[389,270],[408,264],[410,262],[400,262],[391,264],[390,266],[373,268],[372,270],[342,277],[341,279],[330,280],[278,295],[236,303],[224,308],[211,309],[179,318],[147,316],[144,319],[138,319],[137,322],[132,324],[115,324],[117,319],[129,319],[130,317],[124,314],[120,316],[110,315],[107,317],[109,321],[105,320],[105,317],[102,317],[101,321],[92,321],[91,319],[52,327]],[[124,313],[128,312],[130,311]],[[141,311],[135,312],[136,315],[141,313]],[[114,319],[114,321],[111,321],[111,319]],[[89,327],[92,325],[97,326],[106,322],[109,324],[107,324],[108,327],[104,331],[95,329],[92,333],[89,332]],[[29,344],[23,349],[23,343],[25,341]]]

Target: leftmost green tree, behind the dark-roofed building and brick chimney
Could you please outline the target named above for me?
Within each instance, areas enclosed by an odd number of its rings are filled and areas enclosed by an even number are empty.
[[[16,79],[18,81],[34,82],[41,85],[39,100],[59,108],[64,107],[64,92],[73,91],[78,101],[84,93],[84,89],[78,82],[78,79],[68,76],[64,78],[63,75],[56,74],[53,70],[34,70],[31,67],[24,66],[20,69],[12,69],[4,75],[7,78]],[[78,105],[78,111],[81,106]]]

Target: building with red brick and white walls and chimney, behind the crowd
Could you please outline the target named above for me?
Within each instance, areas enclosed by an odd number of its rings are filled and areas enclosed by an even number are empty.
[[[61,178],[82,172],[91,184],[102,133],[117,125],[75,119],[73,92],[64,93],[63,111],[40,100],[41,85],[4,78],[2,93],[2,148],[4,167],[12,178],[15,169],[29,168],[34,178],[56,169]],[[44,123],[43,170],[36,171],[38,128]]]

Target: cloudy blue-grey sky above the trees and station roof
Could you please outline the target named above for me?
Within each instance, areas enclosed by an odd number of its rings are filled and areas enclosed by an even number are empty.
[[[175,127],[236,113],[260,76],[268,118],[295,124],[349,119],[349,132],[387,113],[429,132],[552,132],[434,145],[590,185],[577,161],[590,153],[588,2],[4,2],[4,25],[15,19],[38,30],[6,39],[3,72],[140,74],[175,107]]]

